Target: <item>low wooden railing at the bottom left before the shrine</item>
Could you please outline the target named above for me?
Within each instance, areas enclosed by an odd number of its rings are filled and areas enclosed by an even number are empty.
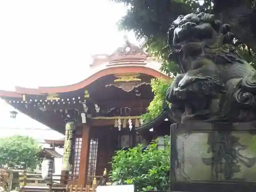
[[[8,191],[18,187],[21,191],[50,191],[61,190],[67,192],[95,192],[99,185],[107,185],[108,174],[104,171],[102,176],[88,176],[91,178],[86,186],[77,185],[78,176],[75,175],[56,175],[53,174],[51,180],[44,180],[41,174],[26,173],[25,170],[7,170],[8,172]],[[65,180],[63,180],[63,178]],[[64,184],[65,183],[65,184]]]

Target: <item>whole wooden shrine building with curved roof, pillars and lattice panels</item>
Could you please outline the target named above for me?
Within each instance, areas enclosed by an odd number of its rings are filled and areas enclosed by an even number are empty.
[[[37,89],[15,87],[14,92],[0,91],[0,97],[64,134],[65,139],[54,141],[64,146],[61,175],[72,174],[70,184],[91,185],[94,176],[101,176],[105,168],[111,170],[115,151],[147,144],[154,138],[149,128],[170,124],[164,121],[164,113],[146,125],[141,118],[154,97],[151,79],[169,79],[160,66],[143,49],[126,41],[111,55],[95,55],[81,82]]]

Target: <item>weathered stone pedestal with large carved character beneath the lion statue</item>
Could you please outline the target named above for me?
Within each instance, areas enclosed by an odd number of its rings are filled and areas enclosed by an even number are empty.
[[[256,121],[171,126],[171,190],[256,189]]]

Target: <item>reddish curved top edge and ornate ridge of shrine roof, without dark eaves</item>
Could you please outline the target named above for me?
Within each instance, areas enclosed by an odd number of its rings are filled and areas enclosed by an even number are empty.
[[[111,74],[146,74],[156,78],[169,77],[160,72],[161,63],[148,57],[142,48],[131,44],[129,41],[119,47],[111,55],[95,55],[93,63],[90,65],[89,72],[81,82],[69,86],[59,87],[38,87],[37,89],[15,87],[15,91],[0,90],[0,97],[22,98],[23,95],[45,95],[49,93],[65,93],[76,91],[87,87],[97,79]]]

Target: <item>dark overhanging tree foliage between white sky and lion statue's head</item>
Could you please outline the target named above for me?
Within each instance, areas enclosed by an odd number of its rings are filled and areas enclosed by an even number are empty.
[[[190,0],[114,1],[123,2],[130,6],[126,15],[120,20],[119,28],[133,30],[138,38],[146,38],[147,41],[144,46],[147,48],[147,52],[162,60],[162,70],[166,74],[179,72],[177,66],[174,65],[175,63],[167,61],[166,32],[178,15],[190,12],[191,7],[196,9],[199,6],[198,2]]]

